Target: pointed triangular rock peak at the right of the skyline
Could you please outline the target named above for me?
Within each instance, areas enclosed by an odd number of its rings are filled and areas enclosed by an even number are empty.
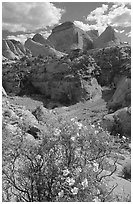
[[[94,40],[94,48],[104,48],[118,44],[120,44],[120,39],[111,26],[108,26],[105,31]]]

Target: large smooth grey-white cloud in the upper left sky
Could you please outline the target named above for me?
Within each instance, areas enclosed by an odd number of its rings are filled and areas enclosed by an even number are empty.
[[[35,31],[58,24],[64,12],[49,2],[3,2],[2,26],[11,32]]]

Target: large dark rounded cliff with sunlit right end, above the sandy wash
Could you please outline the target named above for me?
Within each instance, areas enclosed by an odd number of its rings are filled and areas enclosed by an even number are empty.
[[[74,104],[101,95],[101,87],[93,77],[95,62],[81,56],[72,62],[65,59],[32,69],[32,85],[47,98],[64,104]]]

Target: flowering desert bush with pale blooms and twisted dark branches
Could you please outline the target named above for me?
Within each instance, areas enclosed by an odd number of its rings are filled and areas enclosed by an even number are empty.
[[[14,137],[4,132],[3,201],[12,196],[23,202],[104,200],[99,175],[111,151],[109,136],[99,138],[74,118],[61,118],[41,141],[25,142],[24,136],[24,131]]]

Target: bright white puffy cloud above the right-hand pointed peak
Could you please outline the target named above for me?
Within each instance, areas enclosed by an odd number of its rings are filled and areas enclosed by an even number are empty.
[[[130,27],[131,26],[131,8],[130,2],[111,3],[111,6],[103,4],[96,8],[87,16],[86,21],[94,24],[99,33],[111,25],[113,27]]]

